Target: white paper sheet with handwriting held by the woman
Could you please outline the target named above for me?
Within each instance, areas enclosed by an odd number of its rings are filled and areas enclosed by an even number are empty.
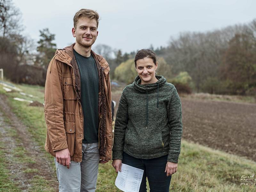
[[[116,177],[116,187],[124,192],[139,192],[143,172],[142,169],[122,163],[121,172],[118,171]]]

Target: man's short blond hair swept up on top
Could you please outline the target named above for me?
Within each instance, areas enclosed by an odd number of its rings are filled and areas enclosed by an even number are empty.
[[[97,28],[98,28],[99,20],[100,20],[99,13],[97,13],[96,11],[93,11],[91,9],[80,9],[78,12],[76,12],[74,19],[73,19],[74,20],[74,28],[76,28],[77,21],[83,17],[86,17],[91,20],[95,19],[97,22]]]

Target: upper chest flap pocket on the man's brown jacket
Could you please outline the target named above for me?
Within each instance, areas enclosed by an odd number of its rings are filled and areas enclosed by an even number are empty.
[[[73,87],[72,77],[63,77],[63,99],[75,100],[76,92]]]

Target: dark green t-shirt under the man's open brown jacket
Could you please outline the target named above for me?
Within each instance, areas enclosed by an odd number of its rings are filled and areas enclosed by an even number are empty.
[[[98,93],[99,76],[92,55],[84,57],[74,50],[81,79],[81,101],[84,115],[83,143],[99,142]]]

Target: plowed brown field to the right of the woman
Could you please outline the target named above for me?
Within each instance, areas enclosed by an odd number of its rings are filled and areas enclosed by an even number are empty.
[[[256,161],[256,104],[181,102],[184,139]]]

